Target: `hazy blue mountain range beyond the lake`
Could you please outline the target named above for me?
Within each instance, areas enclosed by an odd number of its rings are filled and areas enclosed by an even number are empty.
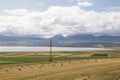
[[[76,34],[51,38],[41,38],[36,35],[6,36],[0,35],[0,46],[49,46],[52,39],[53,46],[61,47],[120,47],[120,36],[94,36],[91,34]]]

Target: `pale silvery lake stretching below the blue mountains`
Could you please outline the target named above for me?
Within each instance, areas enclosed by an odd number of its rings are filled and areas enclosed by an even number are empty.
[[[89,47],[52,47],[52,51],[87,51],[87,50],[110,50],[110,49]],[[23,46],[0,47],[0,52],[42,52],[42,51],[50,51],[50,47],[23,47]]]

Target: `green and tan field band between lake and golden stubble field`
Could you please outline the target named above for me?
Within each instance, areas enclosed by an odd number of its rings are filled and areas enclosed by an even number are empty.
[[[111,51],[61,51],[53,52],[53,61],[119,58],[120,50]],[[0,53],[0,64],[48,62],[48,52],[4,52]]]

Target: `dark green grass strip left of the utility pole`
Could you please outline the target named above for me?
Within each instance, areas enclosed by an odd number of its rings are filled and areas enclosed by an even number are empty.
[[[0,63],[48,62],[48,56],[0,57]]]

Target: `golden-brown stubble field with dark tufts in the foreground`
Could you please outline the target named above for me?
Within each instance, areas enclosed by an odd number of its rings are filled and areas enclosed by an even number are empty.
[[[120,80],[120,59],[0,65],[0,80]]]

